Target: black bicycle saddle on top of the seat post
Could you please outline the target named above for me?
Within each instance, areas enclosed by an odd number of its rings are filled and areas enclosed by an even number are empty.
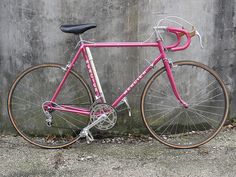
[[[82,34],[83,32],[96,27],[96,24],[89,23],[79,25],[61,25],[60,29],[64,33]]]

